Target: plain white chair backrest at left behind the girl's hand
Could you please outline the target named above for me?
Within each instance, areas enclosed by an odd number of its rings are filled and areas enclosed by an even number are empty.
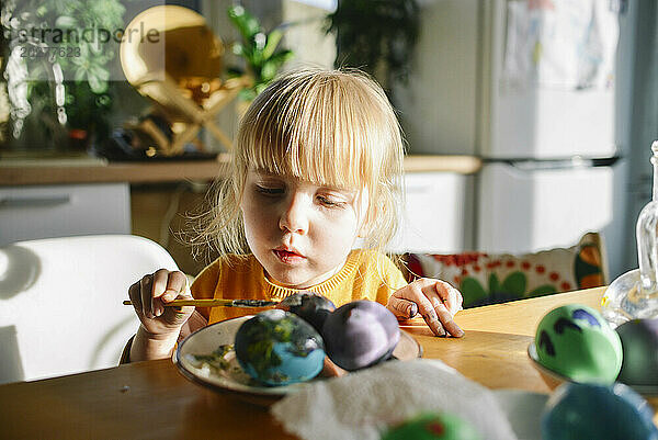
[[[158,244],[131,235],[20,241],[0,248],[0,383],[118,364],[139,320],[128,286],[175,270]]]

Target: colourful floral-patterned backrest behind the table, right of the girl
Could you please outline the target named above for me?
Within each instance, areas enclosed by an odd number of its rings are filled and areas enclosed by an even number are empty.
[[[533,253],[463,252],[405,256],[407,278],[445,280],[460,289],[464,307],[598,287],[608,282],[600,234],[585,234],[569,248]]]

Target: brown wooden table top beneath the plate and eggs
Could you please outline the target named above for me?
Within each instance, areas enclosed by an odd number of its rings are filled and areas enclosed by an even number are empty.
[[[472,308],[457,315],[463,339],[404,327],[424,358],[441,359],[490,388],[548,392],[526,348],[541,317],[569,303],[599,307],[603,289]],[[170,360],[0,386],[0,438],[292,439],[268,409],[188,382]],[[658,399],[653,399],[654,407]]]

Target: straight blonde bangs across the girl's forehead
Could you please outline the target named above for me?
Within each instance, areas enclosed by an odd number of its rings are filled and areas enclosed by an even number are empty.
[[[374,111],[386,97],[365,91],[368,81],[348,75],[282,78],[243,116],[237,136],[239,166],[318,185],[373,188],[388,161],[385,151],[395,142],[383,134],[390,129],[381,128],[397,127],[397,120],[384,121]]]

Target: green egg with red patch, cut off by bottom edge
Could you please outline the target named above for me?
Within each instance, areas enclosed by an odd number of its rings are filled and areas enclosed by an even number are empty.
[[[475,428],[451,414],[422,414],[390,428],[382,440],[481,440]]]

